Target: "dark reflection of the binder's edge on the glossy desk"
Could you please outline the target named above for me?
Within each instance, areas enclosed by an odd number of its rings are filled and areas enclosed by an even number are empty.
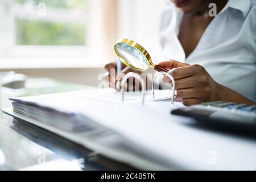
[[[107,159],[104,156],[97,155],[96,152],[87,150],[86,148],[64,139],[59,135],[31,125],[30,123],[22,121],[18,118],[13,118],[13,125],[10,127],[24,137],[30,139],[32,142],[35,142],[36,144],[39,144],[40,146],[43,146],[48,150],[60,155],[63,159],[69,161],[77,160],[82,170],[134,169],[124,164]]]

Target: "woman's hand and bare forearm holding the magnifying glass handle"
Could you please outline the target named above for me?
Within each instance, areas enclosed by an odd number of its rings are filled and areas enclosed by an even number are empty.
[[[174,77],[177,97],[182,99],[184,105],[212,101],[255,104],[234,90],[218,84],[201,65],[189,65],[175,60],[164,61],[158,65],[170,69],[168,73]],[[163,81],[170,82],[170,78],[164,76]]]

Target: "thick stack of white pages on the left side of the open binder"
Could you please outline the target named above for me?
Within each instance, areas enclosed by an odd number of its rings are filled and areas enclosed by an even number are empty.
[[[160,94],[159,94],[160,93]],[[169,96],[168,96],[169,94]],[[170,93],[156,92],[158,100],[170,100]],[[162,97],[161,97],[162,96]],[[85,131],[97,129],[95,122],[81,114],[85,105],[90,105],[97,110],[97,105],[120,104],[121,94],[113,89],[84,90],[67,93],[46,94],[34,97],[10,98],[13,110],[42,122],[46,122],[65,130]],[[141,93],[125,94],[125,103],[141,102]],[[152,95],[146,94],[146,101],[152,101]],[[86,121],[86,122],[84,122]]]

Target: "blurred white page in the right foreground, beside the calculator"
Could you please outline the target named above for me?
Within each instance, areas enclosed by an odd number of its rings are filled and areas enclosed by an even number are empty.
[[[256,140],[193,127],[192,119],[171,115],[179,103],[114,105],[85,113],[130,140],[128,144],[164,166],[185,169],[256,168]],[[100,108],[99,108],[100,109]],[[113,113],[113,110],[116,112]]]

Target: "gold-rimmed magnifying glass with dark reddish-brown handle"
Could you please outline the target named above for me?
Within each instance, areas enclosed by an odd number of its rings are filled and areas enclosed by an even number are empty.
[[[169,71],[168,69],[152,63],[152,59],[146,49],[133,40],[119,39],[114,45],[114,51],[122,63],[130,68],[144,71],[151,67],[158,72]]]

